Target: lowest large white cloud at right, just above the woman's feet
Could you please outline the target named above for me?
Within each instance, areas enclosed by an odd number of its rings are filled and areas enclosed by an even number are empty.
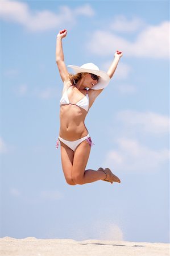
[[[117,139],[117,150],[107,152],[104,166],[123,172],[155,172],[169,160],[169,151],[164,148],[152,150],[135,139]]]

